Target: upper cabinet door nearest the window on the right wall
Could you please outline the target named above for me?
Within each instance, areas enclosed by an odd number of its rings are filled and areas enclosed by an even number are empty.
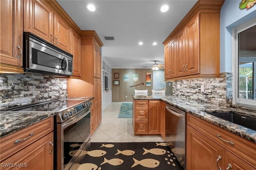
[[[186,29],[186,75],[199,74],[199,17],[198,15],[190,20],[185,26]]]

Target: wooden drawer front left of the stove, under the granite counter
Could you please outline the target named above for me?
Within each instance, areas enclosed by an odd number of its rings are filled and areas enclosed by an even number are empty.
[[[17,131],[11,135],[2,137],[0,140],[0,161],[2,162],[2,160],[8,156],[11,156],[12,154],[18,152],[19,150],[53,131],[53,121],[53,117],[50,117],[49,119],[36,123],[35,125],[31,125],[30,127],[26,127],[25,129]],[[33,135],[29,137],[31,133],[33,133]],[[27,139],[15,143],[16,140],[25,138]]]

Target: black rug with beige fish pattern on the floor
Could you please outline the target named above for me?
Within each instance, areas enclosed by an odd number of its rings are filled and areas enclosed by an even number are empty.
[[[78,170],[183,170],[166,143],[91,143]]]

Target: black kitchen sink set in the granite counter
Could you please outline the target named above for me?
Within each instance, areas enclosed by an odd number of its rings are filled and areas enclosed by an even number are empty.
[[[256,118],[236,111],[204,110],[204,112],[256,131]]]

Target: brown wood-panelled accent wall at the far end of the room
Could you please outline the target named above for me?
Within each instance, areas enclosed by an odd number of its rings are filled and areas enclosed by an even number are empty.
[[[114,73],[119,73],[119,79],[114,79]],[[151,73],[151,86],[146,86],[146,73]],[[129,82],[124,82],[124,74],[129,74]],[[133,82],[133,74],[138,74],[138,82]],[[132,102],[132,94],[136,90],[148,90],[151,94],[152,89],[152,69],[134,69],[134,68],[112,68],[112,102]],[[119,80],[119,86],[113,85],[113,80]],[[144,83],[135,87],[136,84]],[[127,98],[125,97],[127,96]]]

